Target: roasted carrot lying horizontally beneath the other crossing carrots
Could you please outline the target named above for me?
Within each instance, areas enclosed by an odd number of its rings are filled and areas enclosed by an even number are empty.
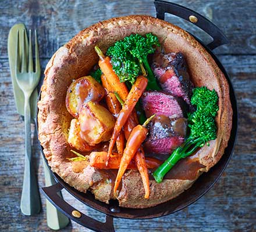
[[[108,153],[106,151],[93,151],[89,157],[90,166],[98,169],[119,169],[122,155],[113,153],[108,160],[108,165],[106,165],[107,158]],[[147,168],[156,168],[162,164],[162,161],[156,158],[146,157],[144,160]],[[137,169],[137,165],[134,161],[131,161],[127,169]]]

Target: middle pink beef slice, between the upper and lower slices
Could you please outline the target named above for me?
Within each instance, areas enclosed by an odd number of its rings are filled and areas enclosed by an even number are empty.
[[[181,97],[157,91],[144,92],[141,96],[141,102],[147,117],[156,114],[180,118],[186,115],[188,107]]]

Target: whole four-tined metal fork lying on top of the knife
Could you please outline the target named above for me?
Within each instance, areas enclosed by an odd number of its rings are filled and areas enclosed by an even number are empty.
[[[26,55],[25,31],[23,30],[22,58],[19,56],[19,31],[16,43],[16,80],[24,93],[24,122],[25,122],[25,159],[24,179],[20,209],[24,215],[34,215],[40,212],[41,202],[35,171],[31,163],[31,113],[30,96],[40,80],[40,60],[38,55],[37,32],[35,31],[35,71],[33,68],[33,52],[31,30],[29,31],[29,57]]]

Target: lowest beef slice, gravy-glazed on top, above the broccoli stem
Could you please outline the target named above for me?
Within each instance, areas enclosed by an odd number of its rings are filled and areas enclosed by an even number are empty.
[[[148,137],[144,149],[149,154],[169,154],[184,142],[187,119],[155,116],[148,125]]]

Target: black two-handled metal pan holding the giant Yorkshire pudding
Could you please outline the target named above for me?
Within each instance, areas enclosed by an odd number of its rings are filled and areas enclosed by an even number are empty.
[[[234,144],[236,142],[236,134],[237,134],[237,103],[236,97],[234,96],[233,86],[230,82],[230,78],[227,75],[225,68],[223,68],[221,62],[217,59],[217,57],[212,53],[212,50],[221,46],[223,44],[227,44],[227,38],[216,27],[211,21],[206,19],[201,14],[194,12],[188,8],[184,8],[183,6],[177,5],[171,2],[165,1],[155,1],[155,9],[157,11],[157,17],[159,19],[165,19],[165,13],[175,14],[176,16],[182,17],[183,19],[194,23],[196,26],[200,27],[202,30],[207,32],[213,38],[213,41],[208,44],[204,45],[200,41],[200,43],[207,49],[209,54],[214,58],[216,63],[218,64],[219,68],[221,68],[223,74],[229,83],[229,92],[230,92],[230,101],[233,108],[233,123],[232,123],[232,131],[229,139],[229,143],[225,149],[225,153],[223,154],[221,160],[213,166],[209,172],[203,173],[193,184],[190,189],[184,191],[184,193],[180,194],[175,199],[165,202],[163,204],[154,206],[152,208],[147,209],[129,209],[129,208],[122,208],[118,206],[118,201],[111,201],[110,204],[105,204],[104,202],[95,200],[94,195],[90,192],[88,193],[81,193],[77,191],[73,187],[70,187],[69,184],[65,183],[61,177],[53,173],[58,183],[54,186],[43,187],[42,193],[47,197],[47,199],[54,205],[56,208],[59,209],[62,213],[64,213],[67,217],[74,220],[81,224],[88,229],[95,230],[95,231],[115,231],[113,226],[113,218],[126,218],[126,219],[151,219],[151,218],[158,218],[160,216],[169,215],[170,213],[175,213],[180,211],[181,209],[189,206],[193,202],[197,201],[202,195],[207,193],[209,189],[214,185],[214,183],[219,179],[222,175],[224,169],[229,162]],[[199,40],[198,40],[199,41]],[[42,150],[41,150],[42,151]],[[43,157],[45,158],[43,152]],[[47,160],[45,159],[47,162]],[[66,189],[70,194],[76,197],[78,200],[83,202],[84,204],[90,206],[93,209],[96,209],[99,212],[105,213],[106,221],[99,222],[93,218],[90,218],[87,215],[81,213],[81,216],[77,218],[76,216],[72,215],[72,212],[76,209],[69,205],[66,201],[64,201],[59,195],[57,194],[62,189]]]

